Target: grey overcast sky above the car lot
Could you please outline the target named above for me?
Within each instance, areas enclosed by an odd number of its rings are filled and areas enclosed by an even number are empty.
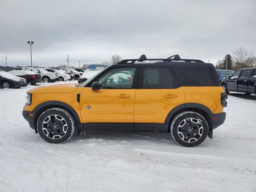
[[[56,66],[122,58],[216,63],[239,46],[256,52],[256,1],[0,2],[0,65]]]

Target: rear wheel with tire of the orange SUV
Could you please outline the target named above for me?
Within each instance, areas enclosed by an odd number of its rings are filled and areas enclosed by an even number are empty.
[[[171,122],[172,138],[184,147],[200,145],[208,135],[208,123],[196,112],[186,111],[176,115]]]

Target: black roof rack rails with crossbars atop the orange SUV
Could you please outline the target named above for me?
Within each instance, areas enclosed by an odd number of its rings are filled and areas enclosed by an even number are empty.
[[[174,57],[173,59],[171,59]],[[136,61],[138,62],[143,62],[143,61],[164,61],[164,62],[172,62],[172,61],[184,61],[184,62],[196,62],[196,63],[204,63],[202,60],[198,59],[181,59],[179,55],[173,55],[168,57],[167,59],[147,59],[146,55],[141,55],[139,59],[124,59],[117,64],[127,64],[127,63],[135,63]]]

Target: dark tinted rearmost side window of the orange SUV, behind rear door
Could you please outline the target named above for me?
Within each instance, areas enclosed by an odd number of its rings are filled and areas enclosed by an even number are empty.
[[[172,67],[181,86],[215,86],[210,69],[182,69]]]

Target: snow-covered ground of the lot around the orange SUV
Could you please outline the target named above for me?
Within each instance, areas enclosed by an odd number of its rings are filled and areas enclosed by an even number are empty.
[[[226,122],[195,148],[106,131],[50,144],[21,114],[34,87],[0,89],[0,191],[256,191],[255,100],[229,96]]]

